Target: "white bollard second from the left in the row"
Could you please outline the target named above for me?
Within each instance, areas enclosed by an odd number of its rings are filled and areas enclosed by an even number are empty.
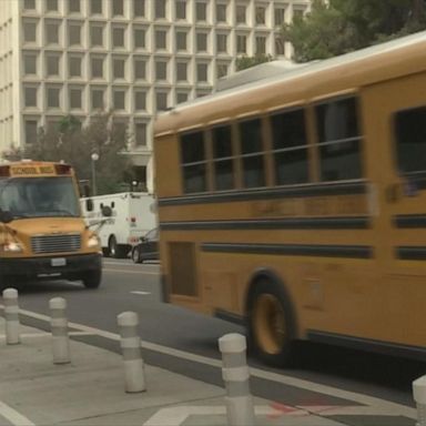
[[[70,359],[70,341],[68,337],[67,301],[54,297],[49,301],[50,326],[52,332],[53,364],[68,364]]]

